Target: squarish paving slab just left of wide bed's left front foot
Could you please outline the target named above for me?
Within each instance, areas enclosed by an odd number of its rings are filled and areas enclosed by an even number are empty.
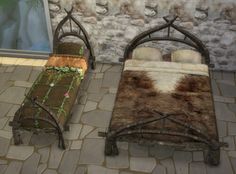
[[[105,140],[103,139],[85,139],[82,145],[79,163],[97,164],[104,162]]]

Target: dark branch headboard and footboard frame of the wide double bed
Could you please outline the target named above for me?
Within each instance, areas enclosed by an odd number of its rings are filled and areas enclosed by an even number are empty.
[[[174,42],[180,42],[180,43],[186,44],[196,49],[205,58],[204,63],[208,65],[208,67],[213,67],[213,65],[210,63],[209,51],[206,48],[206,46],[196,36],[194,36],[188,31],[175,25],[174,22],[176,21],[176,19],[177,17],[174,17],[171,20],[169,20],[167,17],[164,17],[166,24],[149,29],[137,35],[127,45],[124,52],[124,58],[120,59],[120,62],[125,62],[127,59],[132,59],[133,50],[143,43],[152,42],[152,41],[174,41]],[[166,36],[163,36],[163,37],[152,36],[152,34],[165,30],[165,29],[167,29]],[[171,29],[175,29],[179,31],[180,33],[182,33],[184,35],[184,38],[182,39],[182,38],[171,36],[170,35]],[[216,132],[217,140],[211,139],[211,137],[208,137],[207,135],[203,134],[201,130],[195,128],[194,126],[190,124],[186,124],[185,122],[182,122],[178,119],[171,117],[173,114],[161,113],[155,110],[155,108],[153,109],[154,109],[153,115],[155,116],[151,118],[146,118],[138,122],[126,124],[125,126],[121,126],[120,128],[116,130],[111,130],[111,122],[110,122],[107,132],[99,132],[99,136],[106,137],[105,155],[108,155],[108,156],[118,155],[119,151],[118,151],[116,142],[128,141],[128,142],[135,142],[135,143],[149,144],[149,145],[159,144],[159,145],[167,145],[167,146],[174,146],[174,147],[187,148],[187,149],[202,149],[204,150],[204,160],[206,163],[210,165],[219,164],[220,147],[227,146],[227,144],[218,141],[218,132]],[[215,119],[214,124],[216,125],[216,118],[214,119]],[[157,130],[157,129],[150,130],[150,129],[143,128],[145,126],[148,126],[148,124],[150,123],[160,122],[163,120],[168,120],[172,123],[175,123],[176,125],[184,127],[187,130],[191,130],[192,132],[194,132],[194,135],[188,134],[186,132],[173,132],[173,131],[168,131],[168,130]],[[168,136],[185,137],[185,138],[192,139],[192,143],[171,143],[171,140],[169,142],[163,142],[163,141],[158,141],[151,138],[142,139],[141,135],[143,134],[148,134],[150,136],[151,135],[168,135]],[[140,139],[134,140],[134,139],[126,138],[127,136],[130,137],[132,135],[140,135]]]

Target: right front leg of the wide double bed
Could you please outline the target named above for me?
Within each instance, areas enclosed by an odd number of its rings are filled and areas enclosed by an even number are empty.
[[[208,149],[204,150],[204,161],[205,163],[217,166],[220,163],[220,148],[213,149],[208,147]]]

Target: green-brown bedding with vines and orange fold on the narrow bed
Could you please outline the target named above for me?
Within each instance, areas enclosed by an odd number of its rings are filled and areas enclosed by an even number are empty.
[[[54,114],[57,123],[63,128],[86,70],[86,59],[82,56],[52,55],[16,113],[21,127],[55,130],[49,113],[32,102],[36,100]]]

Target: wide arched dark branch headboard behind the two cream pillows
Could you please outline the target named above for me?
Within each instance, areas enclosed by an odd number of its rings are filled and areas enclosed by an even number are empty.
[[[210,55],[209,51],[206,48],[206,46],[202,43],[200,39],[198,39],[196,36],[191,34],[190,32],[180,28],[179,26],[176,26],[174,24],[174,21],[178,18],[178,16],[174,17],[172,20],[168,20],[166,17],[164,17],[164,20],[166,21],[166,24],[161,25],[161,26],[156,26],[152,29],[149,29],[147,31],[142,32],[141,34],[137,35],[131,42],[127,45],[124,53],[124,59],[121,59],[120,61],[125,61],[126,59],[131,58],[132,51],[138,46],[146,42],[151,42],[151,41],[175,41],[175,42],[181,42],[184,43],[190,47],[195,48],[197,51],[199,51],[202,56],[205,58],[205,64],[208,66],[212,65],[210,64]],[[152,36],[151,34],[168,29],[167,36],[162,36],[162,37],[155,37]],[[177,37],[172,37],[170,36],[170,29],[174,28],[175,30],[179,31],[182,33],[185,37],[184,39],[177,38]]]

